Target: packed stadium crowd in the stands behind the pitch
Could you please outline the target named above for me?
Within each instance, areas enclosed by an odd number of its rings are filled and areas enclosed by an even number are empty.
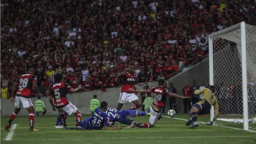
[[[254,0],[2,0],[1,84],[32,64],[42,90],[53,65],[83,91],[119,86],[130,63],[138,84],[170,78],[208,53],[208,34],[256,14]],[[141,70],[142,69],[142,70]]]

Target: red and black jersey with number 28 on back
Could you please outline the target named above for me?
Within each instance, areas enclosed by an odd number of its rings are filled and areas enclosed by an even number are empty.
[[[24,98],[30,98],[31,89],[33,86],[32,82],[37,82],[37,77],[34,74],[23,74],[19,78],[18,89],[16,92],[16,96],[22,96]]]

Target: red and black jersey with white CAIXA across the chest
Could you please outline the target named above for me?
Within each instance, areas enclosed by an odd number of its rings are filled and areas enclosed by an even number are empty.
[[[136,73],[125,72],[122,76],[123,84],[121,92],[133,93],[129,88],[134,89],[134,84],[136,81]]]

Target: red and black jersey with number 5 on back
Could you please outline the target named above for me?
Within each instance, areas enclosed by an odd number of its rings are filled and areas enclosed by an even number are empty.
[[[71,86],[65,82],[58,82],[52,86],[50,96],[53,96],[56,108],[62,108],[69,104],[66,95],[70,90]]]

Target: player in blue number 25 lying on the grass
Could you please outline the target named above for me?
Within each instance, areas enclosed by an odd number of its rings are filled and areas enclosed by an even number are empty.
[[[121,124],[131,125],[134,120],[130,117],[136,116],[150,116],[150,113],[138,112],[137,110],[116,110],[114,108],[107,108],[106,114],[110,118],[110,122],[120,122]]]

